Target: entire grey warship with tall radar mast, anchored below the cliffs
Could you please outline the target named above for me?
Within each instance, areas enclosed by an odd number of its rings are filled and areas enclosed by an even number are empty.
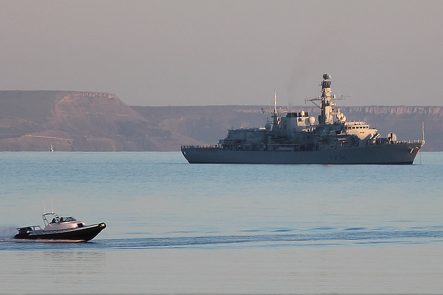
[[[323,75],[320,96],[305,99],[320,108],[318,122],[304,111],[280,116],[274,93],[272,124],[228,130],[217,145],[181,146],[181,153],[188,162],[201,164],[413,164],[424,135],[400,141],[393,132],[381,137],[366,122],[347,122],[334,108],[339,97],[331,94],[330,79]]]

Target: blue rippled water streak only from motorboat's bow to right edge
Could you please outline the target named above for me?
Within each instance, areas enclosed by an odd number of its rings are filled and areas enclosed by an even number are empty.
[[[100,244],[102,240],[100,240]],[[318,230],[307,234],[196,236],[177,238],[109,239],[100,247],[110,248],[242,248],[284,246],[327,246],[379,243],[443,242],[443,229],[408,229],[404,231],[368,230],[362,228],[341,231]]]

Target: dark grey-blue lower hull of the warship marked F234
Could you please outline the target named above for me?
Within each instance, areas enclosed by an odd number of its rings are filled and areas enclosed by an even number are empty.
[[[422,142],[401,142],[321,151],[230,151],[183,146],[191,164],[413,164]]]

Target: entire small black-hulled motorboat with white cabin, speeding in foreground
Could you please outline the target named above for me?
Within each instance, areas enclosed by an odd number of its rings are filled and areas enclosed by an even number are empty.
[[[71,240],[87,242],[95,238],[100,231],[105,229],[105,222],[96,225],[86,225],[75,220],[72,216],[59,217],[57,213],[44,213],[42,215],[44,229],[39,225],[18,227],[19,231],[14,238],[27,240]],[[51,221],[49,221],[51,220]]]

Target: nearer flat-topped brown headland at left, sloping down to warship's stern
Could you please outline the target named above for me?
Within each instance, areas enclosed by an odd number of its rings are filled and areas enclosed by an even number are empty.
[[[109,93],[0,91],[0,151],[168,151],[195,142]]]

